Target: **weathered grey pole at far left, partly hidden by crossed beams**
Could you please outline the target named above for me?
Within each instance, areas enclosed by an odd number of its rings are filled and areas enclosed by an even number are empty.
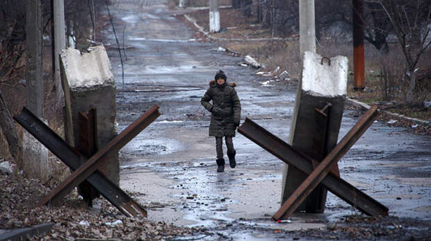
[[[42,1],[28,0],[26,6],[26,108],[43,118]],[[31,134],[24,132],[23,170],[28,177],[47,177],[48,151]]]

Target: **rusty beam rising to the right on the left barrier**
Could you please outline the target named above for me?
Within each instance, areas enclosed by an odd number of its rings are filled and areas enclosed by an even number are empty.
[[[48,202],[58,202],[58,199],[70,193],[72,189],[81,182],[83,182],[87,177],[89,177],[93,172],[95,172],[103,163],[104,160],[108,158],[110,154],[118,152],[124,145],[126,145],[133,137],[139,134],[145,129],[149,124],[151,124],[156,118],[160,116],[158,112],[158,106],[154,105],[149,110],[135,120],[131,125],[129,125],[125,130],[123,130],[118,136],[111,140],[103,149],[99,150],[94,154],[88,161],[84,161],[83,165],[76,169],[72,175],[67,177],[55,190],[53,190],[45,199],[38,205],[44,205]]]

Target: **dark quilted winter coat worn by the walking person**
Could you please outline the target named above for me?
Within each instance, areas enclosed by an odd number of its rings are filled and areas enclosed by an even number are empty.
[[[236,127],[241,119],[241,102],[235,91],[235,83],[218,85],[211,80],[201,104],[211,112],[210,136],[235,136]],[[213,105],[209,102],[213,100]]]

